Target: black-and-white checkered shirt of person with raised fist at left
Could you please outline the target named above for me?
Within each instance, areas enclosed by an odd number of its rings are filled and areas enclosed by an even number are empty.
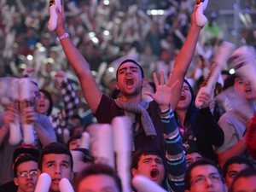
[[[79,98],[68,80],[61,82],[61,95],[64,99],[64,108],[59,113],[51,114],[49,118],[55,129],[57,142],[63,143],[63,130],[67,128],[68,119],[73,116],[79,104]]]

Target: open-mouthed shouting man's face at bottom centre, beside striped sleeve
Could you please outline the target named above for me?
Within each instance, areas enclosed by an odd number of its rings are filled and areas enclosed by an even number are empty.
[[[137,169],[131,170],[133,176],[141,174],[155,183],[161,184],[165,178],[165,166],[162,159],[154,154],[142,155]]]

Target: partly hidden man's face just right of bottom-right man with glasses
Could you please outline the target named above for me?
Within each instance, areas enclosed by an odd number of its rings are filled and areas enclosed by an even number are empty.
[[[246,164],[238,164],[238,163],[231,164],[228,167],[227,175],[225,177],[225,183],[226,183],[229,190],[230,190],[230,187],[231,187],[231,183],[233,182],[237,173],[241,172],[242,170],[246,169],[247,167],[248,166]]]

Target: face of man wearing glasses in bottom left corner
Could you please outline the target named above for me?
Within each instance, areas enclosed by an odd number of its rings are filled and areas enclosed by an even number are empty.
[[[21,163],[14,182],[19,192],[33,192],[38,182],[38,163],[33,160]]]

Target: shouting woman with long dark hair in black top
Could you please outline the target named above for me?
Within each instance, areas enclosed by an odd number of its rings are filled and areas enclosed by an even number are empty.
[[[209,109],[210,96],[202,95],[204,105],[195,108],[195,95],[189,82],[184,79],[183,90],[175,110],[177,125],[183,136],[185,150],[195,150],[217,162],[213,146],[221,146],[224,132],[218,126]]]

